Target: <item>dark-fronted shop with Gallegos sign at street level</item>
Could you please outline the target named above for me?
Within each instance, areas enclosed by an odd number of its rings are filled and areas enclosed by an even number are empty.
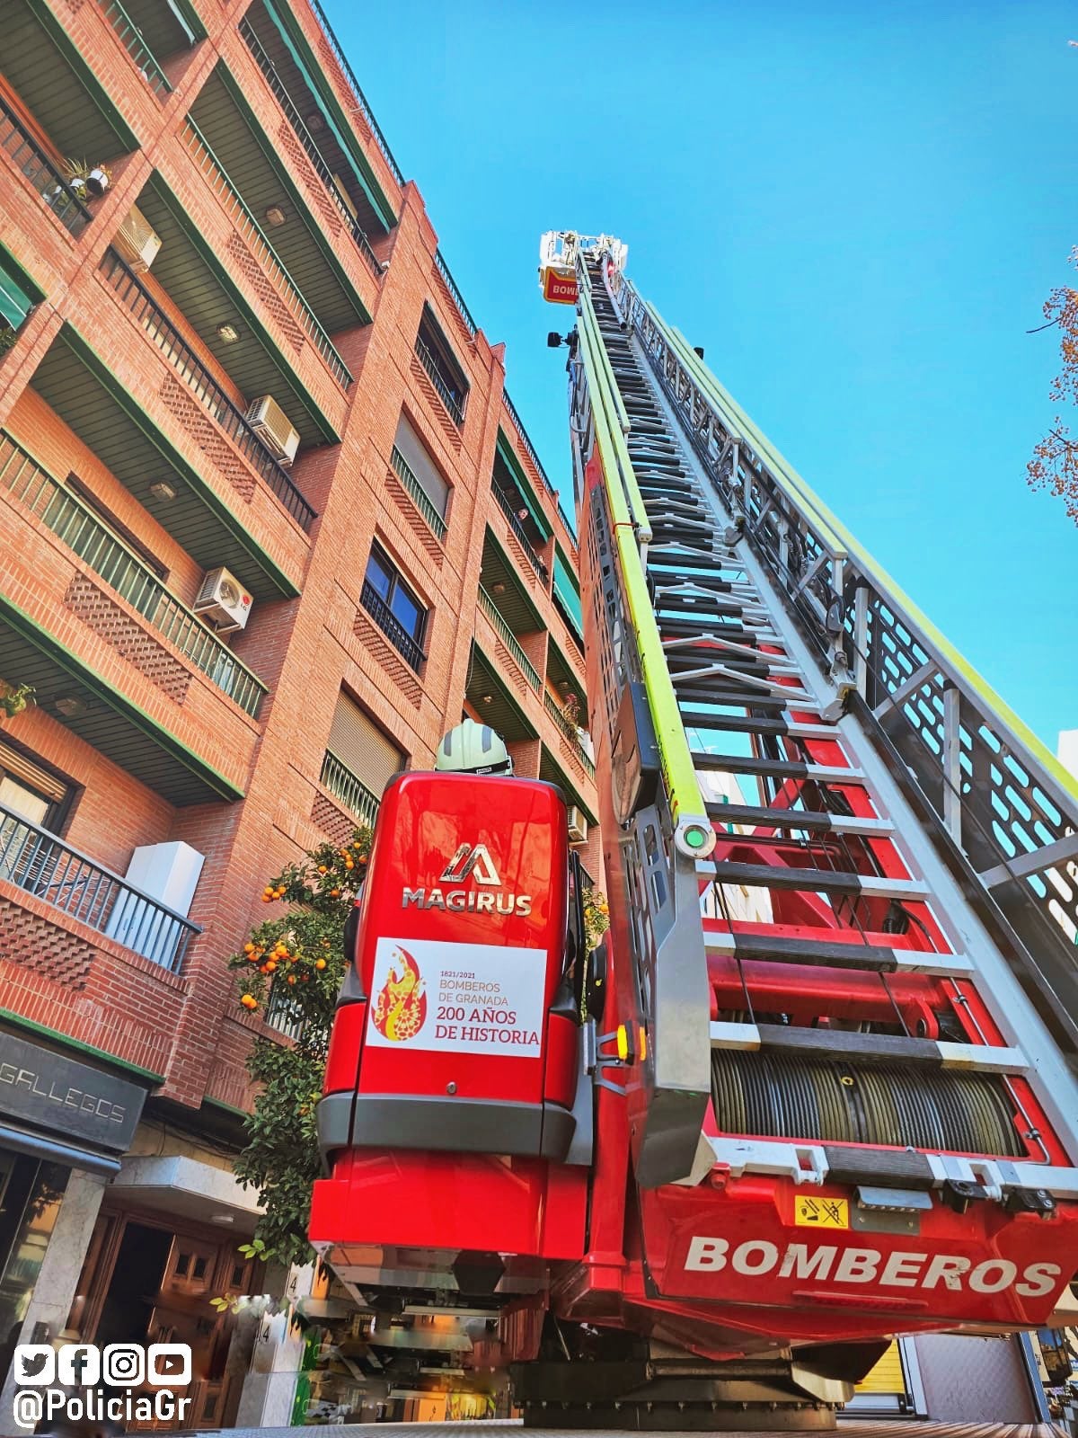
[[[82,1258],[144,1100],[139,1084],[0,1032],[0,1388],[17,1342],[63,1327],[70,1258]],[[50,1277],[56,1242],[63,1261]]]

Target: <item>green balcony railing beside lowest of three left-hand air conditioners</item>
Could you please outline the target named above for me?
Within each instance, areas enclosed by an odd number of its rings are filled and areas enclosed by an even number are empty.
[[[69,489],[30,459],[26,450],[0,430],[0,489],[37,515],[88,569],[99,575],[142,618],[180,650],[206,677],[252,718],[257,718],[266,686],[223,644],[180,600],[174,598],[152,569]]]

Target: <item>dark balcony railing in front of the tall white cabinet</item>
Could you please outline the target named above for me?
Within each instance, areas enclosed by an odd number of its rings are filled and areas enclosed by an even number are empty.
[[[175,974],[203,930],[56,834],[0,805],[0,879]]]

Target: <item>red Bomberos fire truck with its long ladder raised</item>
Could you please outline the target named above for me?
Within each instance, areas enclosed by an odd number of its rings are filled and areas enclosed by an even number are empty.
[[[540,250],[611,928],[552,785],[388,785],[310,1240],[493,1314],[529,1422],[826,1428],[895,1334],[1072,1322],[1078,789],[625,253]]]

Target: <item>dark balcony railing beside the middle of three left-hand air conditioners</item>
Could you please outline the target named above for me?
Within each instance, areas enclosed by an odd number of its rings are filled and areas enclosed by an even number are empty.
[[[165,319],[149,292],[144,289],[115,250],[105,250],[101,269],[105,279],[112,285],[165,360],[184,377],[203,406],[213,414],[244,457],[250,460],[252,466],[266,480],[300,529],[308,532],[316,519],[316,510],[303,499],[290,475],[277,464],[243,413],[231,403],[217,381],[210,377],[210,372],[180,338],[172,324]]]

